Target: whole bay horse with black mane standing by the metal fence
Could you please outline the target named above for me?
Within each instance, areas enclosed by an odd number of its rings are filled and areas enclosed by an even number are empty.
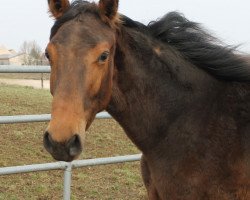
[[[148,199],[249,200],[250,64],[182,14],[146,26],[118,3],[48,0],[45,148],[76,159],[107,110],[143,154]]]

